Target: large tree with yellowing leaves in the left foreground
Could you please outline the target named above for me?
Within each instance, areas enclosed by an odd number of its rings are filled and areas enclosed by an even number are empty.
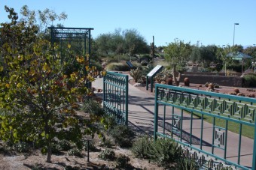
[[[36,36],[36,26],[17,22],[13,8],[5,10],[11,22],[1,24],[0,30],[0,136],[13,143],[34,142],[50,162],[54,139],[67,139],[81,148],[82,135],[93,134],[86,126],[96,118],[81,122],[76,110],[77,99],[90,95],[85,84],[93,81],[94,70],[84,57],[62,64],[50,42]],[[74,64],[75,69],[66,71]]]

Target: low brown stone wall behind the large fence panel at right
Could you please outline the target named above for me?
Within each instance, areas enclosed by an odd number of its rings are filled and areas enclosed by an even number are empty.
[[[242,75],[243,76],[243,75]],[[242,76],[218,76],[199,73],[184,73],[181,74],[180,82],[184,81],[187,77],[190,83],[205,85],[206,82],[217,83],[218,85],[242,87]]]

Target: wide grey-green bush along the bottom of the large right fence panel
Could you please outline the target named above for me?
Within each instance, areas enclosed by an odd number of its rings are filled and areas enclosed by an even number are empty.
[[[158,166],[198,169],[196,161],[182,157],[181,147],[172,139],[157,139],[154,142],[154,139],[149,136],[140,136],[133,143],[132,152],[135,157],[152,160]]]

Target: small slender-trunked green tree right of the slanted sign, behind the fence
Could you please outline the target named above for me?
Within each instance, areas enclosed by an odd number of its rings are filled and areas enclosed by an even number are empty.
[[[175,39],[174,42],[169,43],[164,49],[166,61],[172,66],[172,75],[175,85],[178,85],[176,79],[176,70],[184,70],[191,54],[190,43],[184,43],[183,40]]]

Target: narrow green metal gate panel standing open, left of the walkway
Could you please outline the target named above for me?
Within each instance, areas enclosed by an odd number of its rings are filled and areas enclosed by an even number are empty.
[[[118,124],[128,125],[128,75],[107,72],[103,79],[103,108]]]

